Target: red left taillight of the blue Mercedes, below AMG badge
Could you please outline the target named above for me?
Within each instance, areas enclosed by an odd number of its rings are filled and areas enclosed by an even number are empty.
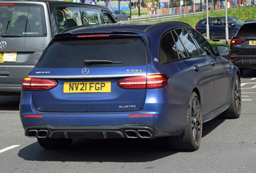
[[[50,90],[58,85],[54,79],[25,77],[21,90]]]

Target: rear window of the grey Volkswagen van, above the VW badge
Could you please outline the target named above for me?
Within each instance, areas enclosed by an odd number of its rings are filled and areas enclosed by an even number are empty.
[[[0,33],[31,37],[47,36],[43,6],[1,5]]]

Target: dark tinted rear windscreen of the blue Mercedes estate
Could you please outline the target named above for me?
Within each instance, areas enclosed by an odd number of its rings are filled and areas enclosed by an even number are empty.
[[[85,64],[85,60],[108,60],[119,63]],[[75,68],[144,64],[147,64],[147,56],[142,38],[99,38],[52,42],[41,56],[37,67]]]

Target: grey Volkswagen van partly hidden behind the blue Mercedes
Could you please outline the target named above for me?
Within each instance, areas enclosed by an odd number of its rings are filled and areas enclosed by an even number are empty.
[[[0,1],[0,95],[20,95],[23,78],[62,30],[116,23],[102,6],[59,1]]]

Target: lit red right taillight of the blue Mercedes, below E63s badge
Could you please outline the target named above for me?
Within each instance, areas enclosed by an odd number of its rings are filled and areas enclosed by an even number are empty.
[[[166,74],[131,76],[119,79],[117,84],[123,89],[157,89],[166,87],[169,79]]]

